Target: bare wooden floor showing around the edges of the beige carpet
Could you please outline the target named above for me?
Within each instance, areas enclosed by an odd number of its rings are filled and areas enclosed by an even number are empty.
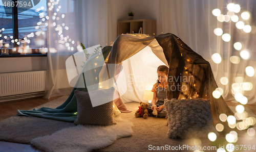
[[[39,105],[45,104],[50,102],[53,99],[56,99],[60,96],[51,97],[50,99],[45,99],[42,97],[35,97],[35,98],[29,98],[29,99],[22,99],[22,100],[15,100],[11,102],[3,102],[0,103],[0,121],[4,120],[6,118],[9,118],[11,116],[14,116],[17,114],[17,110],[29,110],[34,107],[37,107]],[[237,103],[227,102],[228,106],[237,106]],[[245,107],[250,108],[254,114],[256,114],[256,105],[245,105]],[[20,143],[12,143],[12,142],[4,142],[0,141],[0,151],[26,151],[26,152],[34,152],[34,151],[41,151],[37,149],[36,147],[33,147],[28,144],[20,144]]]

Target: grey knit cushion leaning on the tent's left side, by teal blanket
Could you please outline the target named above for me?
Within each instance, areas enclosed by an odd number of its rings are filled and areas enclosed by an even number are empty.
[[[113,120],[113,99],[115,88],[111,87],[104,90],[96,90],[90,92],[99,100],[105,99],[111,101],[96,107],[92,106],[91,99],[88,92],[75,91],[77,98],[77,118],[75,124],[93,124],[93,125],[112,125],[116,124]]]

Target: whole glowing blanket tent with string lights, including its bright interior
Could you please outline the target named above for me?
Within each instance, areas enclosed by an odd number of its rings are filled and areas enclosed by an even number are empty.
[[[119,69],[118,65],[120,64],[122,64],[123,70]],[[150,74],[156,75],[156,67],[161,64],[169,67],[167,99],[208,98],[214,125],[222,123],[219,120],[220,114],[233,115],[222,97],[214,98],[212,96],[212,92],[218,86],[210,64],[179,37],[169,33],[155,37],[143,34],[119,35],[112,47],[104,47],[102,53],[94,54],[86,62],[76,86],[65,103],[56,109],[19,110],[18,114],[73,122],[77,112],[75,90],[90,92],[108,89],[114,84],[117,84],[117,89],[124,102],[140,102],[143,89],[150,89],[148,87],[157,78],[144,82],[137,81],[141,80],[138,78],[145,80]],[[117,74],[119,77],[116,80],[114,78]],[[136,90],[135,88],[140,85],[144,85],[143,89]],[[134,89],[130,90],[129,88]],[[101,103],[94,104],[97,106]]]

